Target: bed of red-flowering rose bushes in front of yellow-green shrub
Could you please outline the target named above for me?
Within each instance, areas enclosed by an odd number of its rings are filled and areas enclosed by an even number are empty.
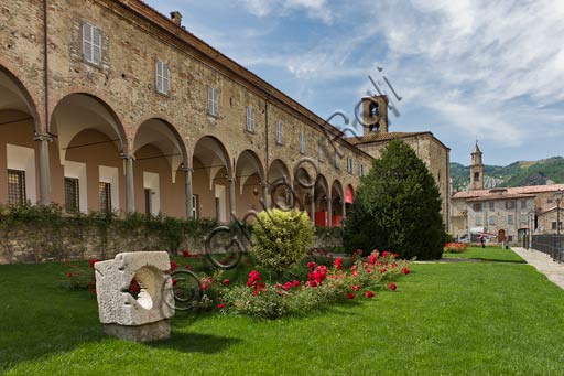
[[[303,314],[343,299],[371,299],[377,289],[394,291],[392,280],[410,272],[408,261],[397,260],[390,253],[375,250],[367,258],[357,258],[348,270],[338,260],[332,268],[310,261],[303,282],[267,283],[252,270],[246,286],[218,286],[220,310],[262,319]]]

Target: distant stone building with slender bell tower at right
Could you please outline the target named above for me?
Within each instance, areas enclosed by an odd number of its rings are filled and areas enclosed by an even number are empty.
[[[554,194],[564,184],[484,189],[484,163],[476,143],[471,153],[470,190],[451,198],[451,232],[455,237],[468,233],[488,233],[501,240],[521,243],[530,230],[556,232]]]

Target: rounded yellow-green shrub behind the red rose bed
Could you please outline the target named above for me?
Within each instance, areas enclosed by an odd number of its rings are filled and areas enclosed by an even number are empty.
[[[257,262],[281,275],[305,256],[314,229],[303,212],[269,210],[258,214],[252,233]]]

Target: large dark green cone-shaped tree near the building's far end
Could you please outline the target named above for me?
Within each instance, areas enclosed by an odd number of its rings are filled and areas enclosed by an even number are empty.
[[[445,236],[435,180],[413,149],[392,140],[360,182],[345,221],[345,247],[437,259]]]

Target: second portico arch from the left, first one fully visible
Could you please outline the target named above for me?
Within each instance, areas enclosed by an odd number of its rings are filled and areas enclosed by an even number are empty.
[[[126,130],[108,104],[86,93],[70,94],[55,106],[50,130],[63,166],[53,186],[67,211],[134,211],[132,157]]]

